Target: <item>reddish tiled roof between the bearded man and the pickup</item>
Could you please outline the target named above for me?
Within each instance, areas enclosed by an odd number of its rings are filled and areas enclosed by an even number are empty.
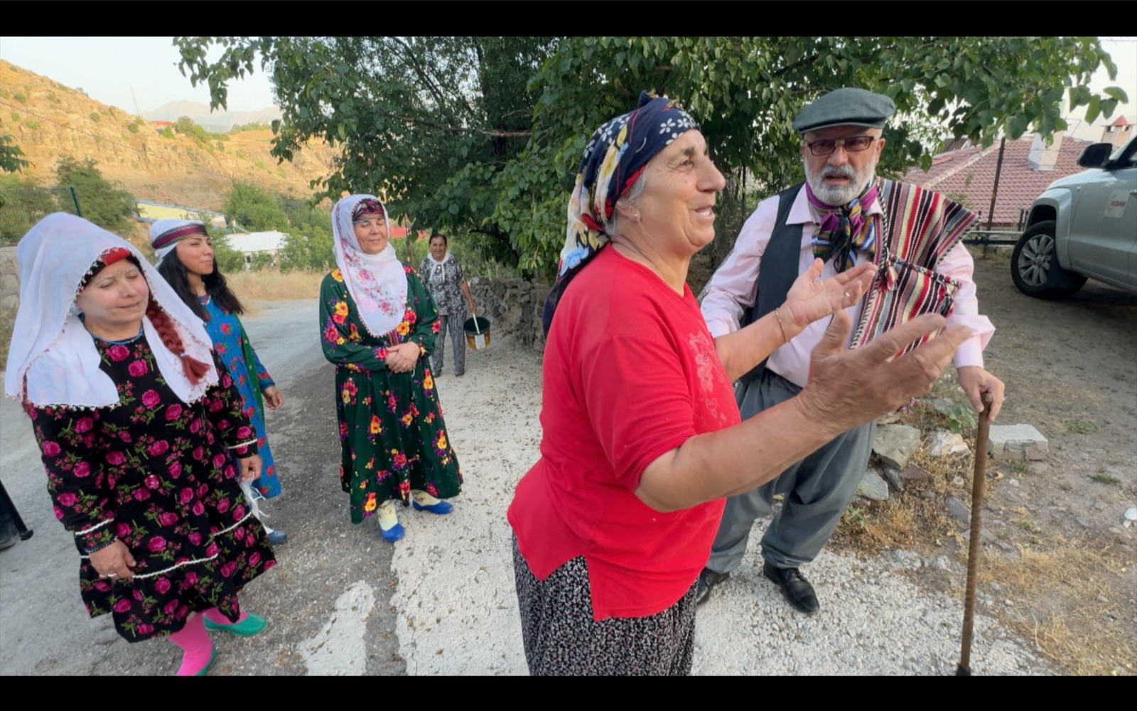
[[[1084,171],[1085,168],[1078,165],[1078,156],[1093,143],[1063,137],[1054,170],[1036,171],[1027,160],[1032,138],[1026,135],[1016,141],[1006,142],[998,195],[995,198],[994,224],[996,225],[1018,225],[1020,210],[1030,209],[1035,198],[1051,183]],[[998,147],[996,142],[989,148],[963,148],[940,154],[932,158],[932,166],[927,173],[920,170],[910,171],[904,175],[904,181],[960,199],[980,213],[981,224],[986,225],[995,184],[995,168],[998,165]]]

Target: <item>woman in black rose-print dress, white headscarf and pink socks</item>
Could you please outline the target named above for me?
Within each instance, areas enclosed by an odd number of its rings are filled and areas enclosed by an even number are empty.
[[[32,417],[83,602],[127,642],[168,636],[179,676],[200,676],[207,628],[265,627],[238,603],[275,563],[238,486],[259,473],[256,431],[201,320],[128,242],[56,213],[16,257],[5,392]]]

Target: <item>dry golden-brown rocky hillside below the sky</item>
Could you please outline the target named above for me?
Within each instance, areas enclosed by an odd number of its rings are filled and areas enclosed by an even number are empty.
[[[11,134],[32,162],[23,174],[42,184],[55,182],[60,156],[93,158],[105,177],[121,182],[138,199],[216,210],[233,180],[306,198],[312,195],[309,182],[326,175],[337,155],[318,142],[298,152],[294,162],[277,165],[268,152],[272,131],[201,141],[176,132],[167,138],[159,130],[0,60],[0,133]]]

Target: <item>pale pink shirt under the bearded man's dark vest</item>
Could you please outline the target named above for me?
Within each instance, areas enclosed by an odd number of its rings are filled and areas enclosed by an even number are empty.
[[[870,215],[882,214],[880,202],[869,209]],[[707,328],[715,338],[724,336],[739,328],[742,312],[754,305],[758,288],[758,268],[762,254],[770,243],[770,235],[778,218],[778,197],[767,198],[758,204],[754,214],[742,225],[735,249],[722,263],[719,270],[703,290],[702,308]],[[802,249],[798,256],[798,273],[805,272],[813,263],[813,231],[819,216],[810,205],[805,189],[798,191],[797,198],[786,216],[787,224],[802,225]],[[858,250],[856,263],[870,259],[871,255]],[[982,350],[995,332],[995,326],[987,316],[979,313],[979,299],[976,296],[976,282],[972,280],[974,261],[961,241],[940,259],[937,271],[960,281],[955,292],[955,305],[947,325],[969,325],[976,334],[964,341],[955,352],[956,367],[978,365],[982,367]],[[822,279],[837,273],[832,259],[828,259],[821,272]],[[863,299],[846,309],[853,319],[853,330],[861,319]],[[818,345],[829,325],[829,319],[814,321],[790,342],[773,352],[766,366],[790,382],[805,387],[810,377],[810,354]],[[852,340],[852,332],[849,333]]]

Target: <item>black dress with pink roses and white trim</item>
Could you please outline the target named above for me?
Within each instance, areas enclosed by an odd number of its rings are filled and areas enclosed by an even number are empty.
[[[110,613],[128,642],[175,633],[191,611],[217,607],[235,622],[238,590],[276,561],[230,456],[256,454],[232,378],[215,356],[218,385],[186,405],[144,334],[96,347],[118,404],[27,408],[56,516],[80,551],[88,612]],[[88,552],[115,538],[134,557],[133,580],[91,565]]]

